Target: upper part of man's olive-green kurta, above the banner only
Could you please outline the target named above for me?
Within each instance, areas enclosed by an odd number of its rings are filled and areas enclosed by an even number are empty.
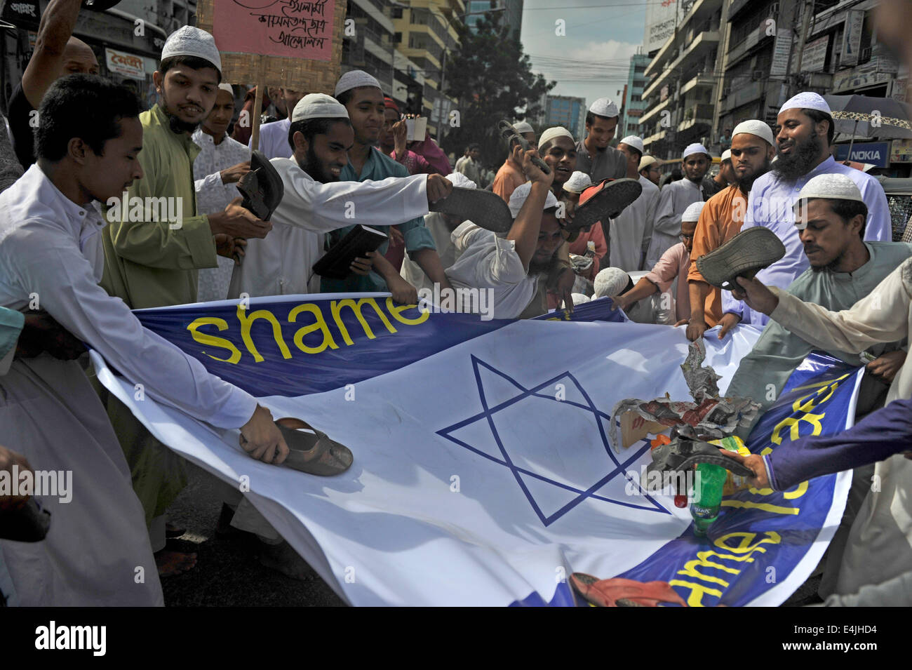
[[[130,187],[130,207],[121,208],[120,221],[109,223],[102,233],[105,274],[101,285],[133,309],[195,303],[197,269],[218,265],[209,218],[196,213],[193,160],[200,148],[189,135],[171,130],[168,116],[158,105],[140,114],[140,122],[139,160],[144,176]],[[141,216],[133,215],[140,212],[134,198],[141,199]],[[180,227],[154,220],[154,211],[165,218],[162,204],[176,213],[178,202]]]

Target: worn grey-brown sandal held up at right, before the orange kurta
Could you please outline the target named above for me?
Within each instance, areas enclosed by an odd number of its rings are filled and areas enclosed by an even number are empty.
[[[718,249],[697,259],[697,269],[706,283],[733,291],[741,289],[736,277],[753,279],[756,273],[779,261],[785,245],[776,233],[763,226],[741,231]]]

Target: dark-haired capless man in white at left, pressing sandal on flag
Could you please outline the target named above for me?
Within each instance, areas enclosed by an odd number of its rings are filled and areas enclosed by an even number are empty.
[[[39,296],[50,317],[150,397],[214,427],[240,428],[254,458],[285,460],[268,409],[143,328],[98,286],[105,226],[98,201],[143,176],[139,100],[80,74],[59,79],[40,112],[37,162],[0,195],[0,305],[25,310]],[[0,376],[0,397],[7,443],[36,469],[69,470],[78,482],[71,500],[44,498],[53,514],[44,541],[0,541],[20,602],[163,604],[130,467],[83,367],[51,356],[14,360]]]

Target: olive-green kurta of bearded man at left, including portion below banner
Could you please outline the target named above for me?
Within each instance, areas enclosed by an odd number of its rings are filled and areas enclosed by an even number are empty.
[[[120,221],[109,223],[102,232],[105,273],[101,285],[133,309],[195,303],[197,269],[218,264],[209,219],[196,215],[193,160],[201,149],[189,135],[171,130],[168,116],[158,105],[140,114],[140,122],[143,177],[130,187],[129,206],[121,206]],[[139,213],[134,198],[141,199],[141,217],[134,214]],[[165,200],[158,200],[161,198]],[[181,199],[180,227],[167,221],[162,203],[171,205],[167,213],[178,211],[178,201],[167,199]],[[157,221],[153,210],[157,210]],[[183,459],[153,438],[116,397],[101,395],[148,524],[186,486]]]

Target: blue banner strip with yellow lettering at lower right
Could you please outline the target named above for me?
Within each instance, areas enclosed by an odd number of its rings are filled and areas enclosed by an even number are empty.
[[[747,447],[768,454],[798,438],[844,430],[862,372],[831,356],[811,354],[753,428]],[[691,525],[617,576],[668,582],[690,606],[750,603],[791,572],[817,539],[833,503],[835,478],[818,477],[785,491],[736,492],[722,500],[708,537],[698,538]]]

